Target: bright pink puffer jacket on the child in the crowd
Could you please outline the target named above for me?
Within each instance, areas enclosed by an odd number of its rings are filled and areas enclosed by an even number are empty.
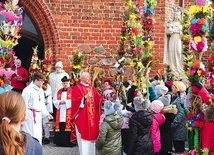
[[[161,140],[160,140],[160,129],[159,126],[163,124],[165,117],[162,113],[153,114],[153,121],[150,127],[151,136],[154,145],[154,152],[158,153],[161,149]]]

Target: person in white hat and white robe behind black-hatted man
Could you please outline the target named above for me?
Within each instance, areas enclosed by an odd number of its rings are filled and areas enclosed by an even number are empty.
[[[51,90],[52,90],[52,97],[54,97],[54,95],[57,93],[57,91],[63,87],[61,79],[64,76],[69,78],[68,73],[66,73],[63,70],[62,61],[58,61],[55,64],[55,71],[49,75],[49,83],[50,83]],[[55,117],[55,115],[56,115],[56,108],[53,107],[53,117]]]

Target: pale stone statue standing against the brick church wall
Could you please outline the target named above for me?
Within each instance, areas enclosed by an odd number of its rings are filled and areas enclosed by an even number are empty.
[[[167,22],[164,52],[164,63],[171,66],[172,72],[178,76],[183,76],[183,59],[182,59],[182,25],[180,23],[181,8],[173,9],[173,16]]]

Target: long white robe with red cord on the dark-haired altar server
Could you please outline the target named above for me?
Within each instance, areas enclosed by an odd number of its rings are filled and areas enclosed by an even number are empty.
[[[27,107],[27,115],[21,131],[29,133],[42,144],[42,118],[49,115],[45,106],[44,91],[31,82],[23,90],[22,96]]]

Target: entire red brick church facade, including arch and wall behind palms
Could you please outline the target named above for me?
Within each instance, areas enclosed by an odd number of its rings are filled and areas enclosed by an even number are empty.
[[[192,1],[157,0],[153,58],[159,63],[152,74],[163,63],[165,23],[172,8],[179,3],[188,8]],[[141,2],[143,4],[143,0]],[[120,44],[125,0],[20,0],[19,3],[39,27],[44,49],[51,48],[54,62],[61,60],[67,72],[71,70],[68,57],[79,45],[86,44],[91,49],[102,45],[106,50],[104,55],[87,53],[85,58],[89,59],[111,55],[111,51]]]

